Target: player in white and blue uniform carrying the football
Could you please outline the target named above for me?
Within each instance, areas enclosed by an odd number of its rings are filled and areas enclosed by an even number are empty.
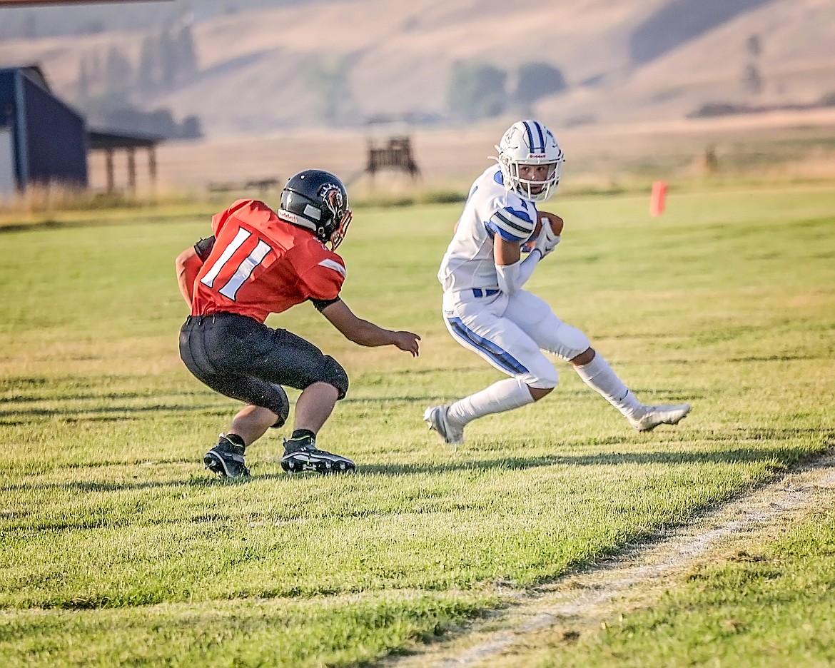
[[[447,443],[463,443],[464,426],[474,419],[538,401],[556,387],[557,371],[545,351],[571,362],[638,431],[678,423],[689,405],[645,406],[582,331],[522,289],[560,240],[562,219],[536,207],[559,185],[564,157],[554,134],[535,120],[521,120],[495,148],[498,165],[473,183],[438,280],[449,333],[509,378],[446,406],[428,407],[423,419]],[[524,259],[523,246],[530,248]]]

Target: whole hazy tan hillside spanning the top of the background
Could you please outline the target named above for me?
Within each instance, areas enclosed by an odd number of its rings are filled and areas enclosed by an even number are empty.
[[[155,4],[160,15],[172,11]],[[811,104],[835,91],[828,0],[746,0],[736,15],[726,3],[685,0],[575,0],[534,14],[498,0],[326,0],[234,14],[210,12],[210,4],[189,18],[196,73],[165,92],[133,89],[131,99],[177,118],[196,114],[211,137],[319,125],[328,86],[342,91],[342,126],[403,115],[443,124],[456,61],[502,68],[509,89],[523,63],[559,68],[569,84],[563,94],[507,110],[555,126],[681,119],[717,102]],[[159,29],[136,20],[141,30],[7,38],[0,64],[41,63],[53,89],[77,102],[84,58],[100,62],[118,46],[137,66],[144,38]],[[757,53],[746,48],[752,36]],[[639,48],[653,40],[657,53]],[[751,66],[755,92],[743,85]]]

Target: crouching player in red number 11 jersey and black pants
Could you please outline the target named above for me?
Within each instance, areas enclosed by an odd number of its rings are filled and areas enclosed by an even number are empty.
[[[301,395],[281,468],[356,469],[350,459],[316,448],[316,433],[347,392],[345,370],[305,339],[266,326],[270,313],[311,301],[349,341],[418,354],[417,334],[362,320],[339,297],[346,271],[334,251],[351,215],[342,181],[305,170],[287,181],[277,213],[257,200],[238,200],[214,216],[212,236],[177,257],[180,292],[191,306],[180,357],[201,382],[246,403],[203,458],[221,478],[248,476],[245,448],[267,428],[284,425],[290,402],[283,385]]]

